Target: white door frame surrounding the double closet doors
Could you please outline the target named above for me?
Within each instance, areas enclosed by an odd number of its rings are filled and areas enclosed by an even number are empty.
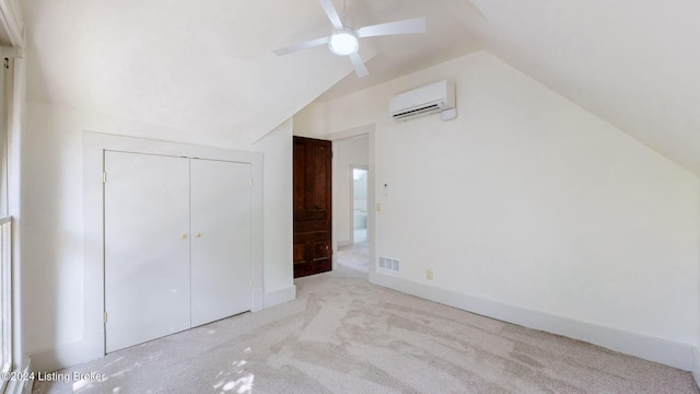
[[[262,153],[83,131],[83,347],[85,357],[105,355],[104,327],[104,152],[124,151],[250,164],[252,311],[264,309]]]

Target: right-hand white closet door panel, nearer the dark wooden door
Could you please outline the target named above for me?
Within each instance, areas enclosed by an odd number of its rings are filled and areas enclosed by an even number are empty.
[[[191,324],[250,310],[250,165],[190,161]]]

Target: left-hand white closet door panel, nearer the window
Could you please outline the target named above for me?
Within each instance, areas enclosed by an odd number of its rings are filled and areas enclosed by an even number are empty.
[[[105,152],[106,351],[190,327],[189,161]]]

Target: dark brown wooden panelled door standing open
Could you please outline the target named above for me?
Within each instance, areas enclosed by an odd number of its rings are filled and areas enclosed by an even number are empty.
[[[294,278],[329,271],[330,141],[294,137]]]

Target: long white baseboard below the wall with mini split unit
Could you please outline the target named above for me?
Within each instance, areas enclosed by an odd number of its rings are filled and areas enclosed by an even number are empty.
[[[397,291],[420,297],[430,301],[454,306],[500,321],[525,327],[563,335],[573,339],[598,345],[614,351],[660,362],[685,371],[693,368],[693,347],[643,334],[578,321],[546,312],[528,310],[499,301],[469,296],[453,290],[441,289],[404,278],[372,273],[370,281]],[[695,358],[699,356],[697,350]],[[700,361],[697,361],[700,362]],[[700,373],[696,372],[696,379]]]

